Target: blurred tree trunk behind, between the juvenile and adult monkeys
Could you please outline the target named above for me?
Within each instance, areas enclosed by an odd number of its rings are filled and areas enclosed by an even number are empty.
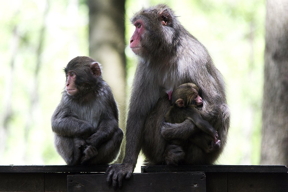
[[[119,107],[119,126],[125,128],[126,59],[125,0],[88,0],[89,54],[103,66],[103,79],[111,86]],[[120,160],[123,156],[121,147]]]

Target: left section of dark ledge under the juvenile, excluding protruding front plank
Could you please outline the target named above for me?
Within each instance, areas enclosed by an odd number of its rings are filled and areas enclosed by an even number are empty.
[[[0,166],[0,191],[67,191],[67,175],[104,174],[108,165]]]

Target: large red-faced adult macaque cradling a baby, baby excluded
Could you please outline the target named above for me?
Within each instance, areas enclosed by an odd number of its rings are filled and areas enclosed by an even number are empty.
[[[172,91],[192,82],[202,89],[200,113],[218,132],[221,148],[205,153],[196,145],[185,150],[183,164],[212,164],[225,146],[230,113],[226,104],[225,82],[206,48],[178,21],[165,4],[143,8],[131,19],[135,32],[130,48],[139,61],[133,82],[127,118],[126,150],[123,163],[110,165],[107,182],[122,186],[130,178],[140,150],[149,165],[165,162],[170,140],[193,136],[195,125],[189,119],[180,124],[165,123]],[[175,158],[178,151],[174,150]]]

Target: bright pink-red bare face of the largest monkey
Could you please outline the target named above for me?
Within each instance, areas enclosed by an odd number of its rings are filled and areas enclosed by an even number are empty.
[[[130,48],[137,55],[141,50],[141,35],[144,31],[143,22],[141,20],[137,20],[134,22],[134,26],[136,27],[132,37],[130,38]]]

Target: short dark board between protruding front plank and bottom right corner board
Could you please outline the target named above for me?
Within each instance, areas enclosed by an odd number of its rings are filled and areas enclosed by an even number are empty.
[[[205,173],[206,190],[213,192],[228,191],[227,173]]]

